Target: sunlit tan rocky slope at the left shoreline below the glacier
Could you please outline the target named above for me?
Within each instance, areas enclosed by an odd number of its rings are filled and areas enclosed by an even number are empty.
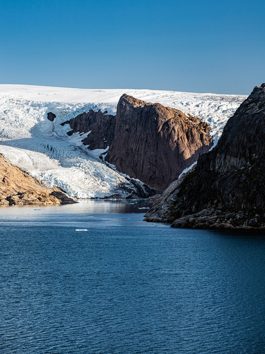
[[[0,204],[76,203],[57,187],[46,188],[40,181],[5,161],[0,154]]]

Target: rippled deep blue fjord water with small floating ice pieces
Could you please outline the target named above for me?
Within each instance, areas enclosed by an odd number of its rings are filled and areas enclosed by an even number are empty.
[[[172,229],[147,207],[1,207],[0,353],[263,353],[264,234]]]

